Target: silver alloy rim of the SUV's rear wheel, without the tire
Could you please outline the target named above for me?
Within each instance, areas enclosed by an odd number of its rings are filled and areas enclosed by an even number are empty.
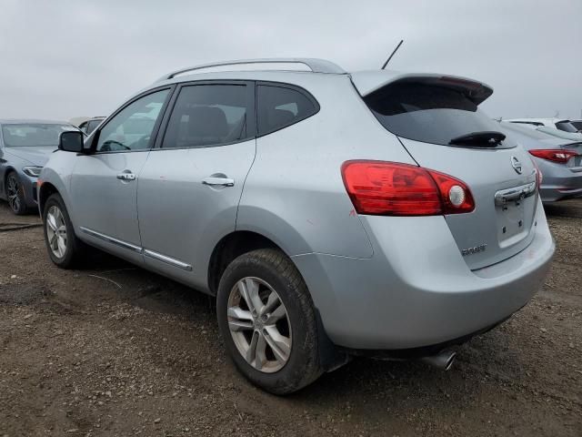
[[[257,371],[280,371],[291,354],[291,323],[283,301],[263,279],[236,282],[228,297],[228,329],[236,349]]]

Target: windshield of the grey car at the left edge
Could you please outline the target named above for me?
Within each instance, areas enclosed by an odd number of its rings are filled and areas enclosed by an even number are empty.
[[[58,147],[61,132],[65,132],[66,130],[75,130],[75,127],[39,123],[3,125],[2,137],[4,138],[5,147]]]

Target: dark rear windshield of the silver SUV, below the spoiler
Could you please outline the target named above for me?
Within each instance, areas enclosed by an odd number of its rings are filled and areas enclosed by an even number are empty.
[[[392,84],[364,98],[378,121],[398,137],[448,145],[451,139],[499,125],[457,90],[425,84]],[[504,140],[497,147],[513,147]]]

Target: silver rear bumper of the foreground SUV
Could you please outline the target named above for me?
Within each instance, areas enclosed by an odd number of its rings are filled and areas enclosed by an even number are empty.
[[[527,304],[547,275],[554,242],[541,206],[531,244],[493,266],[470,270],[442,217],[363,217],[371,259],[294,257],[324,328],[356,350],[424,348],[463,338]]]

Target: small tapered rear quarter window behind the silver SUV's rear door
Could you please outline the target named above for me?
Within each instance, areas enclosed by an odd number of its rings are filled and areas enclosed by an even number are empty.
[[[319,110],[306,94],[284,86],[256,88],[258,135],[265,135],[311,117]]]

